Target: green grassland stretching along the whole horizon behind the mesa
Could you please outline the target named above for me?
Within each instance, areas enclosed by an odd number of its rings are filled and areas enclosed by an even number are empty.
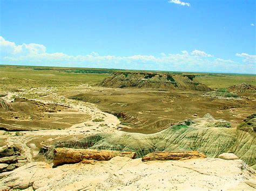
[[[0,65],[0,91],[36,88],[36,87],[69,87],[82,83],[95,85],[113,72],[159,72],[171,74],[193,74],[196,80],[217,89],[239,83],[256,85],[256,75],[188,73],[149,70],[122,70],[103,68],[65,68],[39,66]]]

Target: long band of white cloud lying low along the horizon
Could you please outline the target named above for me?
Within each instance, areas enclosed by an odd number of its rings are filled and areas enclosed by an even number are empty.
[[[99,67],[120,69],[152,69],[190,72],[256,73],[255,55],[236,54],[244,58],[244,63],[214,58],[213,55],[195,49],[191,53],[160,53],[154,55],[99,55],[92,52],[86,55],[48,53],[39,44],[16,45],[0,37],[0,63],[34,66]]]

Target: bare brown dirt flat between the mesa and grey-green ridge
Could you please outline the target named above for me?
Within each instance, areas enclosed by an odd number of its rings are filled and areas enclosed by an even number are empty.
[[[99,109],[118,116],[124,131],[153,133],[186,118],[210,113],[235,127],[255,111],[253,98],[224,100],[206,98],[201,91],[154,91],[137,88],[104,88],[69,93],[69,98],[95,103]],[[196,114],[196,115],[195,115]]]

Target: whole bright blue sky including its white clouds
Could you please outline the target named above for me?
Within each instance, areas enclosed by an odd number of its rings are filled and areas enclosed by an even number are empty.
[[[1,64],[256,73],[255,1],[0,3]]]

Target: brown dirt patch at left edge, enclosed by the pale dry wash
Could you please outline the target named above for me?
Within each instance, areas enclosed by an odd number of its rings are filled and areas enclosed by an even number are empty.
[[[2,129],[10,131],[65,129],[90,119],[89,115],[56,103],[44,104],[15,98],[5,105],[0,107],[0,125]]]

